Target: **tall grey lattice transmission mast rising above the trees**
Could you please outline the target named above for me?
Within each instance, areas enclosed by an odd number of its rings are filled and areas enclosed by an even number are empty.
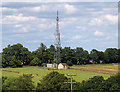
[[[61,62],[61,55],[60,55],[60,32],[59,32],[59,17],[58,17],[58,11],[57,11],[57,17],[56,17],[56,32],[55,32],[55,62],[57,64],[56,68],[58,69],[58,64]]]

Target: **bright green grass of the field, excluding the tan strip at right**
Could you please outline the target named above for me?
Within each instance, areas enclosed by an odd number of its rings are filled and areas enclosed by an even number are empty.
[[[78,66],[77,66],[78,67]],[[74,70],[74,69],[67,69],[67,70],[48,70],[47,68],[42,68],[38,66],[26,66],[22,68],[3,68],[2,69],[2,76],[7,76],[9,78],[16,78],[24,73],[26,74],[33,74],[34,78],[33,81],[35,82],[35,85],[41,80],[45,75],[49,74],[52,71],[58,71],[62,74],[76,74],[75,77],[73,77],[74,80],[77,82],[82,82],[83,80],[88,80],[89,78],[92,78],[93,76],[103,76],[105,79],[107,79],[110,75],[109,74],[102,74],[102,73],[95,73],[95,72],[89,72],[89,71],[81,71],[81,70]],[[68,77],[68,76],[67,76]]]

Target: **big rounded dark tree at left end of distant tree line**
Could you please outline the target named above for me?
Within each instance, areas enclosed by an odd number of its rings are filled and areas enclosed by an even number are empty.
[[[3,67],[19,67],[22,65],[27,65],[32,59],[31,52],[23,47],[22,44],[14,44],[12,46],[3,49],[2,52]]]

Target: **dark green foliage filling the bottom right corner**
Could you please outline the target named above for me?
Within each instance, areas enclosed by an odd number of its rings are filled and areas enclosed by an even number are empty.
[[[104,80],[102,76],[95,76],[88,81],[84,81],[81,90],[99,91],[99,92],[119,92],[120,91],[120,73]]]

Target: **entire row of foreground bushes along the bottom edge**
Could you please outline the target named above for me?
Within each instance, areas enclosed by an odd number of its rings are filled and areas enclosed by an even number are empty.
[[[2,90],[33,90],[36,92],[70,92],[71,85],[64,83],[70,82],[70,78],[64,74],[53,71],[34,85],[32,74],[23,74],[18,78],[2,77]],[[75,82],[75,80],[73,80]],[[94,76],[86,81],[73,84],[73,92],[119,92],[120,91],[120,73],[104,79],[102,76]]]

